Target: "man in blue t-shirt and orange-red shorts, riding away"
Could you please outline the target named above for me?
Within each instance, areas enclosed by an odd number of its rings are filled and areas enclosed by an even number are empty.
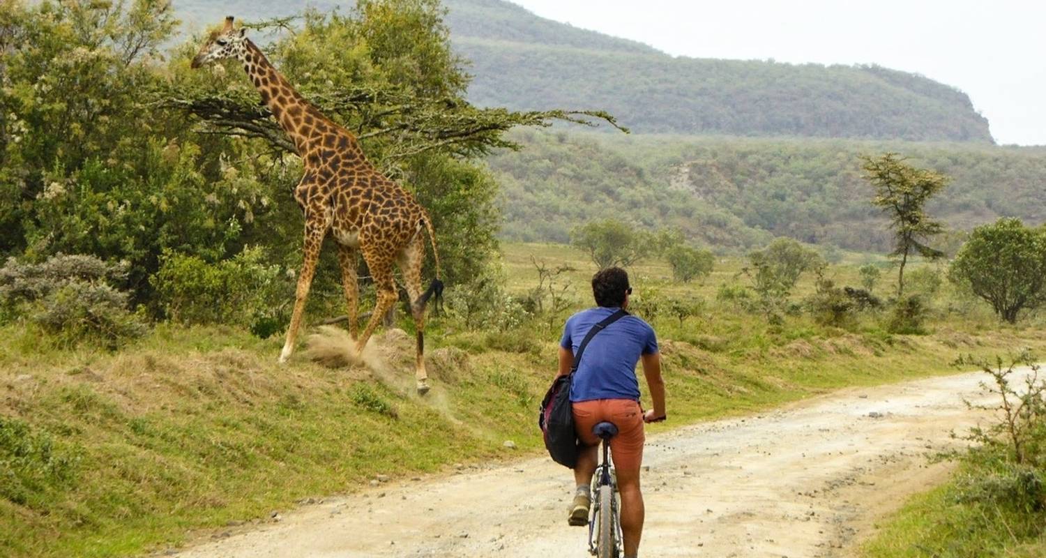
[[[598,307],[574,314],[563,328],[559,376],[570,373],[574,353],[593,326],[618,309],[628,309],[632,294],[629,274],[618,267],[599,271],[592,277],[592,294]],[[645,414],[639,406],[639,382],[636,379],[636,363],[640,360],[654,402],[654,408]],[[574,373],[570,401],[577,438],[583,447],[574,468],[577,489],[568,522],[572,526],[588,523],[592,498],[589,483],[598,465],[596,449],[599,443],[592,433],[592,427],[604,421],[612,422],[618,429],[617,436],[610,440],[610,449],[621,498],[624,558],[635,558],[644,515],[643,495],[639,489],[645,440],[643,423],[665,419],[664,380],[661,378],[661,356],[654,329],[642,319],[628,315],[592,337],[585,358]]]

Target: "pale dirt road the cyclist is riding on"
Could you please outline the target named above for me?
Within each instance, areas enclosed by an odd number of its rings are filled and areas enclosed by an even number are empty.
[[[644,556],[850,556],[872,521],[929,488],[925,455],[973,424],[982,374],[847,389],[651,437]],[[383,484],[224,533],[182,558],[587,556],[566,524],[569,471],[547,460]]]

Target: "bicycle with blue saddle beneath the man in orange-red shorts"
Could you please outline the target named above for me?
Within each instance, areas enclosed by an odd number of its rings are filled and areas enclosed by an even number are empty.
[[[610,462],[610,439],[617,436],[617,425],[600,422],[592,433],[601,441],[602,460],[592,475],[592,511],[589,519],[589,553],[597,558],[619,558],[621,549],[621,511],[617,479]]]

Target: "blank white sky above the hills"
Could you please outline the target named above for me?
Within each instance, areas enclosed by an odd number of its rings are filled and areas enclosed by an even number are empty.
[[[511,0],[675,55],[879,64],[968,93],[999,143],[1046,144],[1046,2]]]

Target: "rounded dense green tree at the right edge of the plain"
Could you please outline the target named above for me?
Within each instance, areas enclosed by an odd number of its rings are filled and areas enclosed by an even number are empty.
[[[1020,219],[1000,219],[974,229],[959,249],[949,277],[987,300],[1006,321],[1046,303],[1046,230]]]

